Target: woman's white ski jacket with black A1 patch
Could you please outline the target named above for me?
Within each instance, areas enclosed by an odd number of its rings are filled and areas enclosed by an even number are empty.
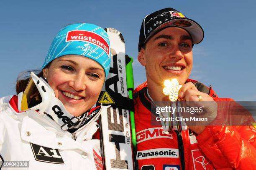
[[[0,98],[0,155],[4,161],[29,162],[29,168],[19,170],[101,169],[100,141],[92,139],[96,131],[97,122],[93,122],[73,140],[48,116],[32,110],[18,112],[16,96]]]

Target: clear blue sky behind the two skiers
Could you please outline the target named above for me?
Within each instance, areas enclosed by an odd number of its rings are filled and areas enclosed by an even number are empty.
[[[106,3],[107,2],[107,3]],[[172,7],[199,23],[204,40],[193,47],[191,78],[212,85],[219,97],[256,100],[256,2],[205,0],[0,1],[0,97],[15,93],[20,72],[40,68],[64,26],[94,23],[120,30],[134,58],[135,85],[146,80],[137,60],[145,15]]]

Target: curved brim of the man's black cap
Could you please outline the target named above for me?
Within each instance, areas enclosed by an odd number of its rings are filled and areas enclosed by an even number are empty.
[[[190,24],[182,24],[182,23],[177,23],[177,21],[184,21],[184,23],[190,23]],[[184,26],[182,26],[184,25]],[[177,19],[173,19],[170,20],[166,23],[163,23],[161,25],[158,26],[158,28],[156,28],[154,31],[152,31],[148,37],[146,38],[146,40],[144,41],[144,43],[153,35],[156,34],[156,32],[158,32],[159,30],[162,30],[163,28],[166,27],[179,27],[179,28],[183,28],[184,30],[187,30],[187,32],[189,32],[189,34],[192,37],[193,43],[194,44],[198,44],[200,43],[203,38],[204,38],[204,31],[202,29],[202,27],[195,22],[194,20],[191,20],[189,18],[177,18]]]

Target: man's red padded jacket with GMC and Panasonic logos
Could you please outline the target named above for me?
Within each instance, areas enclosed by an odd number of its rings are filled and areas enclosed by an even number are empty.
[[[193,82],[199,91],[209,94],[215,101],[232,101],[218,98],[211,87],[200,82],[187,81]],[[134,90],[133,98],[140,170],[256,168],[256,129],[253,126],[207,126],[197,136],[189,129],[181,135],[176,131],[165,133],[161,125],[151,123],[155,119],[150,111],[154,104],[147,95],[147,82]]]

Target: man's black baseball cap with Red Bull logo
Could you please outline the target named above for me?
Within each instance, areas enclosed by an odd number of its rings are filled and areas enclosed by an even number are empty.
[[[147,15],[143,19],[138,51],[141,50],[141,47],[151,36],[166,27],[180,27],[187,30],[194,44],[200,43],[204,38],[204,31],[197,22],[185,17],[185,15],[173,8],[164,8]]]

